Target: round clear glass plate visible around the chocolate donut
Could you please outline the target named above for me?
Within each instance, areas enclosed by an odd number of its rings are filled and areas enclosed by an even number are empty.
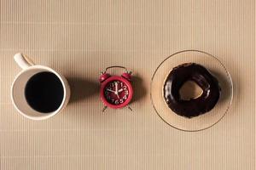
[[[168,107],[163,96],[163,87],[173,67],[192,62],[205,66],[218,79],[221,95],[211,111],[201,116],[186,118],[178,116]],[[152,77],[150,97],[154,110],[164,122],[183,131],[199,131],[212,127],[229,111],[233,98],[233,83],[229,71],[216,57],[202,51],[186,50],[172,54],[160,63]]]

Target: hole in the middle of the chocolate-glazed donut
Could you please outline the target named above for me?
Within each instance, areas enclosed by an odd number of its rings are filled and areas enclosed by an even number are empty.
[[[202,93],[201,87],[193,81],[184,82],[183,86],[179,89],[179,95],[183,100],[199,98]]]

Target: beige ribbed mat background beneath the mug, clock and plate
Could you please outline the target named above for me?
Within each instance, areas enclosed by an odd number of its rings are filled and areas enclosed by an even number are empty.
[[[0,1],[0,169],[254,169],[255,2],[253,0]],[[230,71],[234,100],[215,126],[169,127],[150,103],[160,62],[183,49],[213,54]],[[72,100],[44,122],[15,111],[13,55],[65,75]],[[135,79],[129,110],[102,114],[99,72],[125,65]]]

